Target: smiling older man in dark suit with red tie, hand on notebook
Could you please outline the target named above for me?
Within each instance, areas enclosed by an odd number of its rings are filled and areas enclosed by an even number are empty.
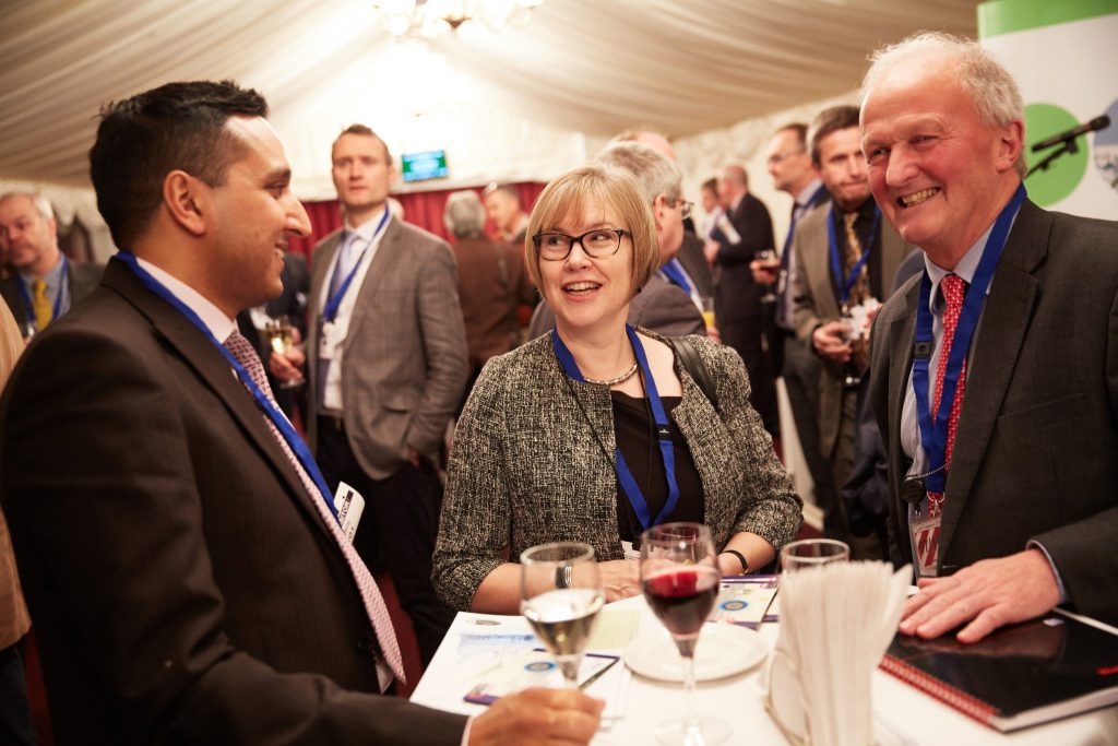
[[[1118,224],[1025,198],[1023,122],[1012,76],[946,35],[863,84],[873,193],[926,258],[872,356],[910,634],[974,642],[1057,604],[1118,622]]]

